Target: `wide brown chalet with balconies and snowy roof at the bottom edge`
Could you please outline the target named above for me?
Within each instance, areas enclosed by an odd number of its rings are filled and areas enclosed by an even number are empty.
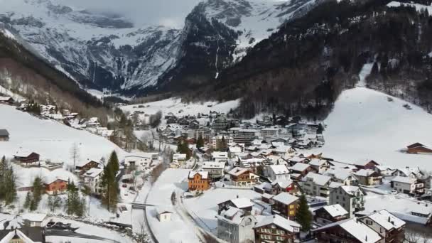
[[[279,215],[265,216],[254,226],[255,242],[294,242],[300,233],[297,222],[287,220]]]

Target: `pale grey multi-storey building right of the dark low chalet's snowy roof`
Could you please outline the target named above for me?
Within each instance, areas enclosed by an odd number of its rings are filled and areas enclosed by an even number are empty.
[[[341,205],[350,213],[350,217],[353,217],[355,212],[364,210],[365,200],[363,200],[363,196],[364,193],[359,187],[343,185],[330,192],[330,205]]]

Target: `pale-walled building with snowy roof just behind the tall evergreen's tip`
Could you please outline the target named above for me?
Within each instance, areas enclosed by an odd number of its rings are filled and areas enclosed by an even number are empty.
[[[330,195],[329,185],[331,179],[327,175],[308,173],[301,182],[301,188],[308,195],[328,198]]]

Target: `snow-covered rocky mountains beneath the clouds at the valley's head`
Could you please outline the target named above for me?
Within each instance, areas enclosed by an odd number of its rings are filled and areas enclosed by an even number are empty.
[[[182,29],[140,26],[74,1],[14,0],[2,4],[0,22],[82,87],[135,95],[191,75],[214,79],[315,1],[206,0]],[[205,60],[204,67],[194,60]]]

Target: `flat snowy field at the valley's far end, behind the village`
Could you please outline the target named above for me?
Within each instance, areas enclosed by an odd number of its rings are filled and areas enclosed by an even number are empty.
[[[139,107],[139,106],[144,107]],[[157,102],[148,102],[145,104],[131,104],[121,107],[124,112],[144,112],[145,114],[156,114],[159,110],[163,115],[173,112],[176,116],[197,115],[198,113],[208,114],[210,111],[229,112],[229,109],[235,109],[239,106],[239,99],[229,102],[202,102],[202,103],[183,103],[180,98],[163,99]],[[182,112],[180,112],[182,111]]]

